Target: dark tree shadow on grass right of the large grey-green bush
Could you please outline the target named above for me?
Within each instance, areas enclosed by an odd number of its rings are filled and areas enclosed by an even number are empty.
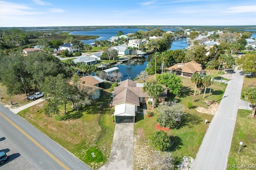
[[[190,113],[187,113],[186,117],[184,117],[182,119],[182,121],[180,122],[180,124],[178,125],[178,127],[176,129],[180,129],[185,126],[192,128],[194,125],[197,125],[202,121],[203,121],[202,118],[199,117],[198,115],[192,115]]]

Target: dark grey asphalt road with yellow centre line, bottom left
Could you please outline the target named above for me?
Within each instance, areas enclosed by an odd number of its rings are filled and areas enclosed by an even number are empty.
[[[0,104],[0,150],[5,170],[90,170],[86,164]]]

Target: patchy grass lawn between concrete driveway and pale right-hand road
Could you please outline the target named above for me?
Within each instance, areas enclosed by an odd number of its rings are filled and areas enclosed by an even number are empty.
[[[150,79],[152,79],[152,76],[150,77]],[[204,134],[206,133],[206,130],[209,126],[209,124],[204,124],[204,121],[205,119],[207,119],[210,122],[213,117],[213,115],[199,113],[198,111],[196,111],[197,107],[207,108],[206,105],[210,88],[207,89],[205,98],[203,98],[203,93],[201,93],[200,95],[198,94],[198,89],[196,92],[196,96],[194,96],[194,83],[191,83],[190,79],[185,77],[182,77],[182,81],[184,86],[182,93],[177,96],[168,94],[168,101],[177,99],[178,102],[182,103],[185,108],[188,102],[193,103],[192,109],[185,110],[187,116],[182,120],[178,128],[167,131],[167,134],[171,137],[172,141],[172,146],[170,147],[169,151],[176,159],[176,164],[180,163],[183,156],[191,156],[192,158],[196,157],[196,154],[202,143],[202,139],[204,138]],[[225,88],[226,86],[224,84],[220,85],[218,82],[214,82],[212,84],[210,99],[214,99],[214,101],[219,104],[224,94]],[[150,111],[153,111],[155,113],[153,117],[148,118],[143,115],[137,115],[136,123],[134,125],[134,134],[136,136],[135,146],[139,144],[141,146],[144,146],[142,147],[143,150],[147,150],[147,152],[144,154],[154,153],[154,151],[152,151],[152,148],[148,146],[148,135],[156,131],[156,119],[159,113],[156,112],[156,108],[150,109]],[[139,151],[144,152],[140,150],[140,147],[134,147],[134,153],[137,153]],[[141,157],[143,157],[143,155],[134,156],[134,167],[140,167],[137,162],[143,164],[140,161]],[[150,158],[147,161],[150,162]],[[149,166],[146,164],[144,166],[149,168]]]

